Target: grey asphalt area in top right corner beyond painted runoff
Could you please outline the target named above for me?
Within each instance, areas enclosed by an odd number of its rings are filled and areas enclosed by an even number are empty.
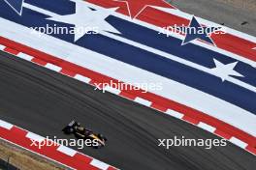
[[[255,0],[168,0],[179,10],[256,36]],[[243,23],[243,24],[242,24]]]

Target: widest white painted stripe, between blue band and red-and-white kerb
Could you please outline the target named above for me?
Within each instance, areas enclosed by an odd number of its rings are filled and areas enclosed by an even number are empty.
[[[42,35],[41,38],[28,36],[30,34],[29,28],[3,18],[0,18],[0,25],[6,25],[6,27],[0,27],[0,32],[7,39],[16,40],[16,42],[27,46],[33,46],[33,48],[88,70],[100,72],[128,84],[135,82],[142,84],[152,81],[152,83],[161,82],[163,89],[161,91],[153,91],[152,93],[200,110],[209,116],[256,135],[256,128],[254,128],[256,125],[255,115],[223,99],[215,98],[174,80],[144,71],[70,42],[63,42],[48,35]],[[16,28],[16,34],[7,29],[10,27]],[[84,57],[84,55],[90,57]]]

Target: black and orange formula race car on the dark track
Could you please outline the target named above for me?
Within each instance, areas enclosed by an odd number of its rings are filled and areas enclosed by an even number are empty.
[[[62,129],[65,134],[74,134],[76,138],[84,141],[91,141],[90,147],[98,149],[104,147],[107,138],[100,133],[94,133],[88,128],[83,128],[79,122],[72,121],[65,128]]]

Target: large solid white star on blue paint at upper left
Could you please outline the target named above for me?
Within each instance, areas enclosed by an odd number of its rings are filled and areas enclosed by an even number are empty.
[[[63,22],[67,24],[75,25],[75,40],[77,42],[85,34],[91,31],[97,30],[98,33],[103,31],[121,34],[116,30],[111,24],[109,24],[105,19],[114,13],[117,8],[104,9],[92,11],[85,3],[82,1],[76,2],[76,13],[67,15],[55,15],[49,17],[48,20],[53,20],[57,22]]]

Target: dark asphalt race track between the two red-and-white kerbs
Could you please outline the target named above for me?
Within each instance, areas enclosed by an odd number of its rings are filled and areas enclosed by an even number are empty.
[[[72,119],[103,133],[107,147],[80,152],[121,169],[253,170],[255,156],[229,144],[158,147],[158,138],[217,138],[133,101],[95,91],[92,86],[0,52],[0,119],[43,136],[61,132]]]

